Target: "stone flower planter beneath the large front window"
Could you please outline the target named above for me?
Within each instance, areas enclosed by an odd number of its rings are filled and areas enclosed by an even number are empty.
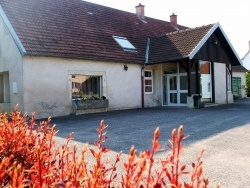
[[[105,100],[80,100],[72,101],[72,114],[89,114],[97,112],[107,112],[109,101]]]

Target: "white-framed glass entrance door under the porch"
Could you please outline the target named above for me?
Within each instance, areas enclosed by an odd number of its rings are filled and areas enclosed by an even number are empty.
[[[169,74],[164,76],[163,89],[167,89],[163,96],[163,105],[187,105],[187,74]]]

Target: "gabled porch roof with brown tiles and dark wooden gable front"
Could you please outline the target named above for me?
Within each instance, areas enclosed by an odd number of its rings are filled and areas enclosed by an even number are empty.
[[[211,40],[212,35],[215,33],[216,45],[218,42],[217,40],[220,42],[220,44],[218,44],[220,49],[217,50],[213,50],[213,44],[208,44],[207,42]],[[215,37],[213,36],[213,38]],[[205,45],[208,46],[204,50],[202,48],[204,48]],[[220,52],[223,52],[224,56],[227,57],[218,58],[218,53]],[[150,38],[149,64],[181,61],[183,59],[199,60],[199,58],[200,60],[231,63],[233,65],[242,64],[219,23],[185,29]],[[221,61],[218,61],[219,59]]]

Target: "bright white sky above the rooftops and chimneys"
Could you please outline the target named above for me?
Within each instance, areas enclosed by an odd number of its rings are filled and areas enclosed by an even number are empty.
[[[169,21],[178,15],[178,23],[188,27],[219,22],[240,58],[249,50],[249,0],[87,0],[100,5],[135,13],[145,5],[145,15]]]

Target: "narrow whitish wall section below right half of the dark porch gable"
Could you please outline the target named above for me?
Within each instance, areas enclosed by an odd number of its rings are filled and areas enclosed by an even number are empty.
[[[232,91],[227,91],[226,65],[214,63],[215,102],[218,104],[233,103]]]

